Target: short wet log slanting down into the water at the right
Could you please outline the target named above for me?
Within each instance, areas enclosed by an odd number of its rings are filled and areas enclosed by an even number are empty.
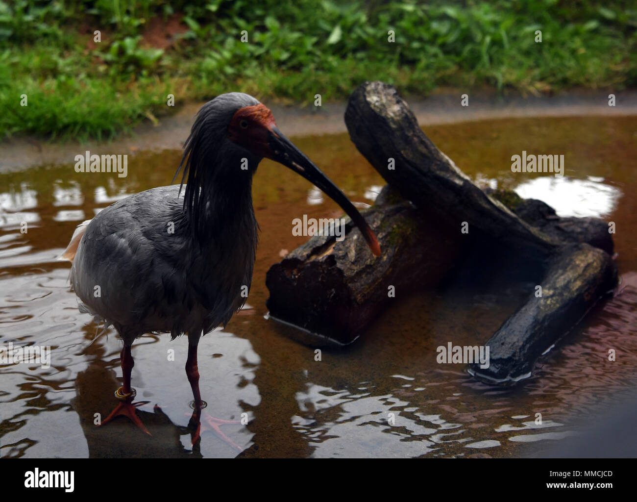
[[[489,367],[470,364],[469,373],[497,384],[529,377],[534,362],[612,291],[616,277],[615,262],[603,250],[588,244],[565,247],[540,283],[541,290],[484,343]]]

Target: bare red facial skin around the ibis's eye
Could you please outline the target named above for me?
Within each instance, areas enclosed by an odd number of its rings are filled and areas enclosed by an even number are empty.
[[[230,121],[227,136],[237,145],[250,150],[261,157],[272,158],[273,152],[268,145],[268,134],[276,127],[272,112],[264,104],[239,108]]]

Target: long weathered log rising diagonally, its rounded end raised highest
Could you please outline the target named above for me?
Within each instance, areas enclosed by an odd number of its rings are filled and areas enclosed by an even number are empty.
[[[497,239],[529,260],[545,260],[564,241],[547,236],[489,197],[436,148],[396,89],[366,82],[345,110],[350,137],[389,185],[433,217],[469,234]],[[392,168],[390,159],[394,160]]]

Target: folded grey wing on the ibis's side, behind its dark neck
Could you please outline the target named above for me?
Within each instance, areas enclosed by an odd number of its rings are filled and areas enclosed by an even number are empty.
[[[187,301],[187,280],[180,276],[187,273],[182,263],[187,241],[178,189],[159,187],[122,199],[99,212],[83,231],[71,285],[92,312],[116,326],[165,331],[149,310],[159,309],[163,317],[171,310],[165,305],[170,299]],[[154,327],[147,329],[143,320]]]

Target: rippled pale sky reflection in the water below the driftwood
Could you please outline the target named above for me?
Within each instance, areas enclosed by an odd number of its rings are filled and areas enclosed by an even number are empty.
[[[419,375],[423,375],[420,373]],[[393,378],[415,380],[413,377],[392,375]],[[375,386],[362,385],[355,389],[333,389],[308,382],[304,391],[296,393],[298,415],[292,417],[292,427],[303,434],[313,447],[313,457],[418,457],[448,454],[455,448],[455,456],[471,455],[471,450],[488,450],[507,443],[557,440],[573,435],[573,431],[555,431],[564,424],[546,419],[536,423],[529,415],[509,415],[510,401],[505,396],[491,403],[489,410],[459,410],[439,405],[440,399],[400,399],[393,393],[374,395]],[[431,382],[430,382],[431,385]],[[403,385],[404,386],[404,385]],[[411,387],[411,385],[408,385]],[[419,387],[426,391],[426,387]],[[415,390],[415,389],[414,389]],[[456,398],[461,392],[452,394]],[[463,408],[461,397],[453,401]],[[443,402],[450,403],[450,397]],[[412,406],[413,404],[418,406]],[[440,410],[446,413],[431,413]],[[450,416],[449,412],[453,412]],[[490,415],[491,426],[480,423]],[[447,420],[447,419],[456,420]],[[531,433],[534,429],[553,429]],[[493,436],[485,439],[485,436]],[[466,450],[469,448],[469,450]],[[436,450],[440,452],[436,453]]]

